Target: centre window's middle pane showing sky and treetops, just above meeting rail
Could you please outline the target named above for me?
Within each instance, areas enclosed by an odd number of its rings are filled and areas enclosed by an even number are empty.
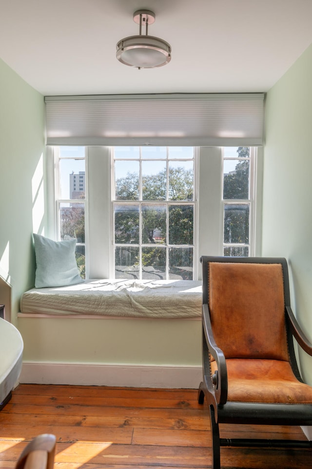
[[[142,199],[166,199],[166,162],[142,161]]]

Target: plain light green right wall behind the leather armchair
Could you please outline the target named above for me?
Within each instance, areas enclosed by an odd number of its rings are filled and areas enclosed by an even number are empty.
[[[312,340],[312,46],[267,94],[262,255],[283,256],[292,307]],[[300,353],[312,385],[312,358]]]

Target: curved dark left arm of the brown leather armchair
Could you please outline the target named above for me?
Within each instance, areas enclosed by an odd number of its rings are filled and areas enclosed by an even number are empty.
[[[203,304],[203,328],[208,351],[214,357],[217,365],[217,371],[210,377],[215,391],[215,400],[217,404],[223,405],[228,397],[228,372],[224,354],[215,343],[207,304]]]

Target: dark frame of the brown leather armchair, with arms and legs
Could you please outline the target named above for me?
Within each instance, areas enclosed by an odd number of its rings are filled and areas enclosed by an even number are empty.
[[[202,311],[202,353],[203,353],[203,381],[199,385],[198,402],[206,399],[210,411],[212,433],[213,469],[220,469],[220,447],[278,447],[278,448],[312,448],[312,441],[308,440],[266,440],[266,439],[226,439],[220,438],[219,423],[250,424],[250,425],[287,425],[311,426],[311,404],[276,404],[276,403],[244,403],[227,401],[228,377],[225,356],[215,343],[214,333],[209,313],[209,262],[242,262],[281,264],[284,276],[285,322],[289,347],[289,357],[292,370],[296,378],[303,382],[294,352],[293,338],[299,346],[312,355],[312,344],[301,330],[290,305],[288,266],[285,258],[277,257],[223,257],[202,256],[203,279],[203,311]],[[217,373],[212,375],[210,367],[211,354],[217,364]]]

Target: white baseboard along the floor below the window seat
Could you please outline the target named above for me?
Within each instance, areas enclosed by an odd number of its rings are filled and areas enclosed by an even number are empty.
[[[25,361],[20,383],[197,389],[200,366],[117,365]]]

